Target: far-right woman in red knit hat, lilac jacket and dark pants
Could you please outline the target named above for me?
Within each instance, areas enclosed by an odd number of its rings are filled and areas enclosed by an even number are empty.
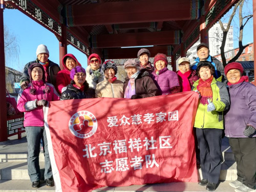
[[[230,109],[225,115],[225,135],[237,162],[236,192],[254,191],[256,185],[256,87],[243,76],[243,66],[231,62],[224,69]]]

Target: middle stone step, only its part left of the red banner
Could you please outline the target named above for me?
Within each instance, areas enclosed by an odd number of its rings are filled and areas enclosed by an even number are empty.
[[[39,162],[41,179],[44,180],[45,163]],[[2,162],[0,163],[1,180],[30,180],[27,162]]]

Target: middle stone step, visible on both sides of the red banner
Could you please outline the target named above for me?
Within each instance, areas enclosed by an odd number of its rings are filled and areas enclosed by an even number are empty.
[[[41,170],[41,179],[44,177],[44,162],[39,162]],[[237,165],[233,161],[225,161],[221,166],[220,180],[236,180]],[[202,178],[201,169],[198,169],[198,174]],[[200,179],[199,178],[199,179]],[[27,162],[2,162],[0,163],[0,179],[1,180],[29,180]]]

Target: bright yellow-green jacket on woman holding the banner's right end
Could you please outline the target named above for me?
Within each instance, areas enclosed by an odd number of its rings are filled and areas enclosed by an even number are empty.
[[[199,80],[197,80],[191,90],[196,91]],[[200,129],[224,129],[223,111],[229,108],[230,100],[227,88],[224,83],[212,79],[212,102],[216,110],[207,112],[207,104],[199,102],[195,120],[195,127]]]

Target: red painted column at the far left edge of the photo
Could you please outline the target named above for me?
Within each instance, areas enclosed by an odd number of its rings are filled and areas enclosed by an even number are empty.
[[[6,141],[7,134],[7,108],[6,108],[6,82],[5,82],[5,43],[4,43],[4,1],[0,5],[0,141]]]

